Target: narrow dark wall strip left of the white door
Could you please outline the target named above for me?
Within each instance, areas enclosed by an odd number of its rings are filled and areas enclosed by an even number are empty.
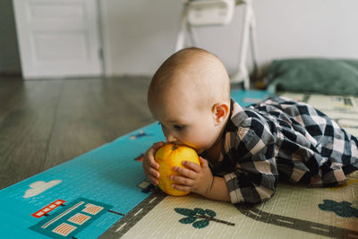
[[[12,0],[0,1],[0,73],[21,73]]]

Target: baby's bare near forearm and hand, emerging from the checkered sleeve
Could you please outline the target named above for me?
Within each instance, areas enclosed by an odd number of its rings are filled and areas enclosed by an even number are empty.
[[[172,175],[171,179],[178,184],[173,188],[184,192],[196,192],[204,197],[217,201],[230,201],[226,181],[222,177],[213,176],[208,161],[200,157],[201,166],[184,161],[183,166],[176,166],[175,171],[181,175]]]

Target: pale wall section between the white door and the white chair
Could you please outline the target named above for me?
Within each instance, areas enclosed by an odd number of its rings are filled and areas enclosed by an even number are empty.
[[[151,74],[173,52],[180,0],[101,3],[108,74]]]

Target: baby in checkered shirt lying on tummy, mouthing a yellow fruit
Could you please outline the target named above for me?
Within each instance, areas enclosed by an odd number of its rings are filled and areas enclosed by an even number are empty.
[[[154,74],[148,104],[167,142],[188,145],[200,166],[175,167],[173,188],[209,199],[258,203],[273,196],[278,178],[310,186],[345,184],[358,168],[358,140],[307,104],[269,98],[241,107],[230,98],[226,68],[200,48],[171,55]],[[155,143],[143,169],[158,184]]]

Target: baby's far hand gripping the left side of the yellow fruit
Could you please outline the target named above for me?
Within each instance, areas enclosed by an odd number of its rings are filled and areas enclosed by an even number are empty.
[[[154,156],[157,152],[157,150],[164,145],[163,141],[157,142],[153,144],[145,153],[143,158],[143,169],[144,173],[147,175],[150,183],[154,185],[158,185],[158,178],[159,178],[159,172],[158,168],[159,165],[154,159]]]

